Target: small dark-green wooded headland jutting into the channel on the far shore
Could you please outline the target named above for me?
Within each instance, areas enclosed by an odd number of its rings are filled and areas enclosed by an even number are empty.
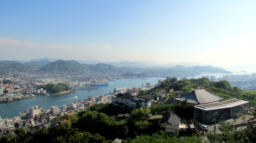
[[[65,83],[59,83],[57,85],[54,83],[48,83],[46,85],[41,85],[38,89],[40,88],[46,90],[47,92],[51,92],[52,94],[71,90],[71,87]]]

